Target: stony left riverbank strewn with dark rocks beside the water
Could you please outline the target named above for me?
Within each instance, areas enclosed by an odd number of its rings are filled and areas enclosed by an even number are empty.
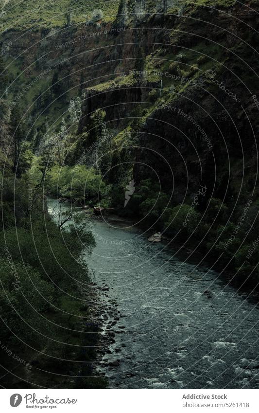
[[[69,202],[57,203],[56,198],[48,198],[47,200],[48,212],[50,215],[53,215],[53,211],[56,212],[53,216],[56,221],[60,215],[57,205],[61,207],[61,214],[73,209],[89,216],[87,211],[78,206],[71,206]],[[92,218],[94,217],[93,215]],[[98,217],[95,218],[98,219]],[[66,225],[69,225],[69,222]],[[91,252],[86,250],[86,265],[90,254]],[[109,287],[105,280],[101,285],[97,285],[91,273],[88,273],[86,283],[81,285],[81,297],[78,299],[82,301],[82,305],[77,315],[78,325],[74,325],[75,333],[73,330],[71,331],[71,335],[74,335],[72,341],[76,343],[70,354],[70,359],[74,360],[74,363],[63,372],[71,376],[69,378],[69,386],[71,387],[105,388],[108,385],[105,372],[100,372],[99,367],[104,363],[105,355],[111,353],[110,346],[115,343],[115,335],[110,331],[110,328],[117,323],[121,316],[117,309],[116,300],[111,299],[108,292]],[[68,311],[71,311],[69,304]]]

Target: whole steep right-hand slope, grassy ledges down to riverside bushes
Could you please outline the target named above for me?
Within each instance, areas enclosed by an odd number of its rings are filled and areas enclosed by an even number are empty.
[[[154,14],[119,34],[123,73],[85,90],[77,138],[82,154],[87,139],[80,143],[80,134],[91,126],[92,113],[104,109],[115,135],[110,165],[120,175],[121,162],[131,164],[126,176],[133,169],[136,183],[123,210],[127,179],[116,178],[111,205],[171,235],[180,230],[178,238],[217,260],[220,255],[221,266],[234,263],[240,274],[253,270],[244,261],[258,228],[258,14],[253,7],[192,5],[182,16]],[[205,192],[197,202],[201,187]],[[194,201],[196,215],[183,227]]]

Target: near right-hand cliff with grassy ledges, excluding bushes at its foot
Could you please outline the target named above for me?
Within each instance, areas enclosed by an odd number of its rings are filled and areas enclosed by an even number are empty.
[[[259,91],[257,21],[256,10],[240,4],[222,11],[198,7],[185,16],[151,16],[141,29],[120,34],[116,41],[124,44],[113,50],[120,55],[121,70],[128,74],[125,61],[137,56],[141,42],[147,75],[140,85],[125,77],[119,86],[86,90],[79,133],[100,102],[106,121],[115,120],[113,127],[121,129],[130,121],[118,119],[130,117],[140,102],[139,148],[132,159],[135,181],[153,176],[153,168],[164,191],[177,187],[175,203],[192,196],[201,183],[207,186],[207,198],[212,193],[231,198],[244,182],[245,198],[253,190],[251,173],[257,162],[258,108],[252,98]]]

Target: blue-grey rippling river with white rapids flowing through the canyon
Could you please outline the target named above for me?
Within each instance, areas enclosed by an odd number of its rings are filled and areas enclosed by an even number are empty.
[[[49,211],[54,205],[49,199]],[[258,388],[258,293],[123,221],[90,225],[96,247],[85,261],[118,310],[115,320],[103,315],[116,339],[98,368],[110,388]]]

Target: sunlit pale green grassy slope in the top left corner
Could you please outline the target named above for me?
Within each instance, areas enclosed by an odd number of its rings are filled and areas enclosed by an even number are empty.
[[[91,18],[94,9],[101,9],[103,21],[113,21],[119,7],[119,0],[23,0],[7,2],[0,16],[0,32],[4,30],[26,30],[37,26],[52,28],[67,23],[66,13],[70,9],[70,24],[77,24]]]

